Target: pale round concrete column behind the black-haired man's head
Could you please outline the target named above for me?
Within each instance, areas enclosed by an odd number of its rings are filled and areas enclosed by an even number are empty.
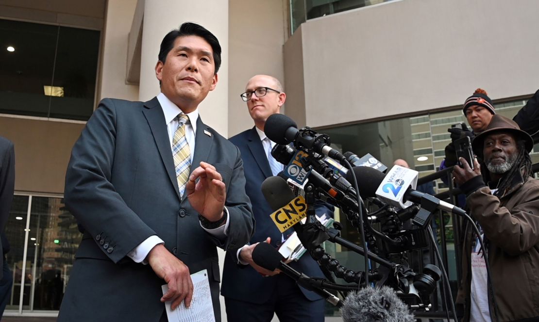
[[[141,1],[141,0],[139,0]],[[222,64],[215,90],[199,105],[204,123],[219,134],[228,135],[228,52],[229,2],[196,0],[145,0],[142,26],[142,53],[139,100],[147,101],[160,93],[155,65],[161,40],[184,22],[194,22],[211,31],[222,47]]]

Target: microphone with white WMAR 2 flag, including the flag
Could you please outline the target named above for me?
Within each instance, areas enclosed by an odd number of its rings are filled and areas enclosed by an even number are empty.
[[[398,167],[397,165],[393,167]],[[378,197],[382,199],[384,202],[387,202],[388,204],[397,205],[400,208],[407,208],[410,206],[410,204],[404,204],[402,201],[411,201],[416,204],[421,204],[421,199],[426,197],[430,200],[437,203],[437,208],[446,212],[451,212],[456,215],[464,215],[466,212],[462,210],[461,208],[450,204],[449,202],[445,202],[443,200],[440,200],[438,198],[435,198],[431,196],[430,194],[419,192],[417,190],[413,190],[412,188],[407,185],[407,188],[405,188],[402,192],[400,187],[398,187],[398,193],[397,197],[393,192],[397,190],[395,188],[395,185],[393,183],[393,189],[386,190],[387,192],[383,192],[383,187],[388,184],[388,181],[390,181],[391,176],[393,175],[393,169],[387,174],[387,176],[384,176],[384,174],[378,170],[372,169],[370,167],[366,166],[355,166],[353,167],[354,175],[356,176],[357,180],[361,180],[362,185],[360,187],[361,195],[364,197]],[[404,168],[406,169],[406,168]],[[410,170],[410,169],[406,169]],[[413,170],[410,170],[413,171]],[[417,171],[413,171],[417,172]],[[398,178],[393,178],[398,179]],[[403,182],[406,180],[403,180]],[[379,193],[379,190],[382,189],[382,193]],[[403,204],[403,206],[400,206],[400,204]]]

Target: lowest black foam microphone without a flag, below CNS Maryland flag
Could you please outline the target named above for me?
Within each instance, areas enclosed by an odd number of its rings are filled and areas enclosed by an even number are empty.
[[[342,303],[341,300],[336,297],[335,295],[331,294],[330,292],[316,288],[312,282],[313,279],[308,277],[307,275],[300,273],[293,269],[292,267],[289,267],[287,264],[283,263],[282,260],[284,257],[279,253],[277,249],[275,249],[273,246],[271,246],[268,243],[259,243],[257,246],[253,249],[253,262],[260,267],[263,267],[267,270],[274,271],[275,269],[279,269],[280,271],[284,272],[288,277],[291,277],[296,281],[296,283],[303,288],[315,292],[316,294],[320,295],[324,299],[326,299],[329,303],[341,307]]]

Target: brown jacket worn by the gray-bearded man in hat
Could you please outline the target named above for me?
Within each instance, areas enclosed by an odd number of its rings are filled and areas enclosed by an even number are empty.
[[[500,199],[481,187],[468,195],[467,206],[488,243],[488,262],[498,307],[498,320],[539,317],[539,180],[522,177]],[[466,224],[462,281],[457,303],[464,304],[469,320],[470,256],[473,229]],[[490,316],[494,321],[493,302]]]

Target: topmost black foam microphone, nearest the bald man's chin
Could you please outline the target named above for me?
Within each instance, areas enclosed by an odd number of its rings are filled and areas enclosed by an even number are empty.
[[[298,124],[283,114],[269,115],[264,125],[264,133],[271,141],[279,144],[293,142],[298,149],[313,149],[339,162],[346,160],[341,152],[329,146],[327,135],[318,134],[309,127],[298,130]]]

